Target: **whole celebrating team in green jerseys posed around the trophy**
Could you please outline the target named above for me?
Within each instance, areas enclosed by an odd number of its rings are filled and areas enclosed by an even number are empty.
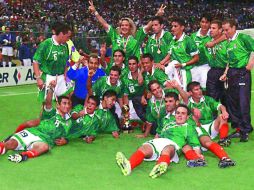
[[[237,32],[234,20],[207,14],[190,36],[181,18],[170,20],[168,32],[164,5],[144,27],[136,28],[130,18],[122,18],[115,28],[92,1],[89,4],[90,13],[111,39],[112,57],[106,57],[105,44],[100,57],[80,55],[70,40],[69,26],[55,23],[52,37],[39,45],[33,59],[40,117],[22,123],[0,142],[0,154],[22,151],[8,156],[19,163],[74,138],[86,143],[100,133],[119,138],[121,131],[131,131],[133,121],[139,121],[142,133],[136,137],[153,139],[129,159],[116,153],[124,175],[143,160],[156,161],[149,174],[156,178],[181,154],[188,167],[206,166],[205,151],[218,157],[220,168],[235,166],[222,147],[229,146],[231,138],[248,142],[253,130],[253,38]],[[228,122],[235,129],[232,134]]]

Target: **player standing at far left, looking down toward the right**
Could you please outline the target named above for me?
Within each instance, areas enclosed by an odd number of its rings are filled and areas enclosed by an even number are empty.
[[[53,28],[55,34],[39,45],[33,57],[33,69],[41,102],[44,101],[48,85],[52,80],[57,81],[56,96],[63,95],[68,90],[64,72],[69,58],[66,42],[71,36],[71,30],[69,26],[59,22]]]

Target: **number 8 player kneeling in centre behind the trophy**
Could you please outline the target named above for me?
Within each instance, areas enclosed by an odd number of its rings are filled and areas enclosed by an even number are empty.
[[[144,78],[138,67],[138,58],[130,56],[128,60],[129,72],[122,77],[124,86],[123,104],[130,107],[130,119],[135,118],[135,113],[143,122],[145,119],[145,108],[141,104],[141,98],[145,90]]]

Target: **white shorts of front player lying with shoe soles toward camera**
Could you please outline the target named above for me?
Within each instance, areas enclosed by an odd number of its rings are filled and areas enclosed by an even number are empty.
[[[177,154],[177,150],[179,150],[179,146],[172,140],[167,139],[167,138],[157,138],[157,139],[153,139],[150,141],[145,142],[143,145],[150,145],[153,149],[153,155],[151,158],[146,158],[144,159],[145,161],[155,161],[158,160],[158,158],[161,155],[162,150],[168,146],[168,145],[173,145],[175,147],[175,155],[174,157],[171,159],[172,162],[178,163],[179,162],[179,157]]]

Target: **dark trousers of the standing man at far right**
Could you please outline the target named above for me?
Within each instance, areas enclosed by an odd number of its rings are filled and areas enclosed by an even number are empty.
[[[250,117],[251,73],[245,68],[230,68],[228,71],[228,89],[226,91],[228,112],[232,127],[242,132],[253,130]]]

